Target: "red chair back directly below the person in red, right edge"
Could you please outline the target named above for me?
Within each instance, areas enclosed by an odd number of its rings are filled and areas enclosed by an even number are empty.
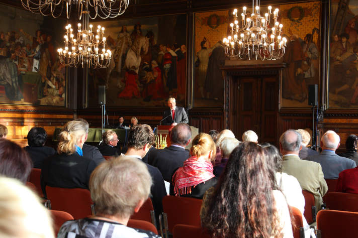
[[[324,201],[330,210],[358,212],[358,194],[329,192]]]

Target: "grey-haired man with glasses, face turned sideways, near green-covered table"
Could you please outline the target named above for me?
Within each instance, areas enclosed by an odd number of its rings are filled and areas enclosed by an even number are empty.
[[[118,136],[112,130],[107,130],[102,134],[102,145],[99,150],[104,156],[118,156],[121,154],[121,147],[118,145]]]

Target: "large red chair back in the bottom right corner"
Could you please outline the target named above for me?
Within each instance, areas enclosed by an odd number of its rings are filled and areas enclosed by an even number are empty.
[[[320,210],[317,213],[317,238],[356,237],[358,212]]]

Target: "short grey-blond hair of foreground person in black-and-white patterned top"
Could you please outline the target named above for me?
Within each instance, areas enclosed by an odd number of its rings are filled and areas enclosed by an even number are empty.
[[[139,201],[148,199],[151,185],[145,163],[129,156],[102,162],[90,178],[96,211],[121,218],[129,218]]]

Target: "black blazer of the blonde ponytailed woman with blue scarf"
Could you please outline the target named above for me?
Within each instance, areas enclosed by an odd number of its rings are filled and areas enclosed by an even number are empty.
[[[79,156],[55,154],[44,161],[41,170],[41,188],[46,194],[45,186],[60,188],[86,188],[92,171],[97,164],[94,160]]]

